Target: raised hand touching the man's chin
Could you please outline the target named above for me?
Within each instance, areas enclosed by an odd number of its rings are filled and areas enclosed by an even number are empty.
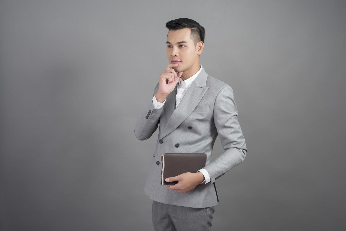
[[[168,64],[166,71],[160,74],[160,80],[158,82],[158,90],[155,94],[157,102],[162,103],[165,101],[167,95],[169,95],[175,88],[179,81],[179,78],[183,72],[175,73],[173,67],[178,66],[178,64]]]

